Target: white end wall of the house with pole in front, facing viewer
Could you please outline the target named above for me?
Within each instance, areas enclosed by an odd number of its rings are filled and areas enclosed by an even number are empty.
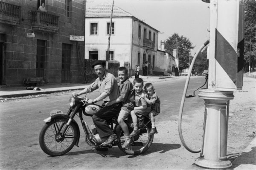
[[[84,58],[89,59],[89,51],[98,51],[99,59],[106,59],[108,49],[107,23],[110,18],[86,18],[85,20],[85,51]],[[90,35],[90,23],[98,23],[98,35]],[[111,34],[110,51],[114,51],[114,60],[130,61],[131,56],[131,17],[113,17],[114,34]]]

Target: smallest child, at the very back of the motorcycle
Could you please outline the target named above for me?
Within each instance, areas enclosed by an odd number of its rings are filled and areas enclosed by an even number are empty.
[[[160,113],[160,99],[157,94],[154,92],[154,86],[152,83],[148,82],[144,86],[145,92],[148,94],[148,98],[144,97],[145,101],[149,105],[147,108],[148,116],[151,119],[152,128],[150,130],[150,134],[154,135],[157,132],[157,128],[155,126],[155,118]]]

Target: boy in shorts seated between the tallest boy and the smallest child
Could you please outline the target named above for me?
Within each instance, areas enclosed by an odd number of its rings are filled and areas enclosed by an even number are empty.
[[[143,91],[143,79],[136,78],[134,79],[134,89],[135,89],[135,106],[134,110],[131,111],[131,118],[134,124],[134,130],[131,132],[130,136],[136,136],[140,133],[138,129],[138,119],[137,116],[147,116],[148,113],[146,112],[147,102],[143,97],[147,95],[145,91]]]

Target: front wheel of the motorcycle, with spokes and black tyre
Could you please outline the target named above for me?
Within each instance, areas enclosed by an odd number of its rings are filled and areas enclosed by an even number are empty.
[[[50,156],[61,156],[69,152],[78,139],[78,130],[71,122],[63,133],[68,119],[54,119],[42,128],[39,134],[39,144],[44,153]]]

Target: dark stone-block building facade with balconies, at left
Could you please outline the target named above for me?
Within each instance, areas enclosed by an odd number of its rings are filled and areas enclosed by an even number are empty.
[[[38,11],[41,3],[46,12]],[[70,41],[84,36],[84,13],[84,0],[0,1],[0,85],[21,85],[26,77],[84,82],[84,43]]]

